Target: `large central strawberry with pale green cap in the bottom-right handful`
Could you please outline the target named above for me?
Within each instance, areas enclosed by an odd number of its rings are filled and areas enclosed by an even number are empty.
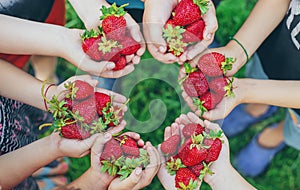
[[[182,152],[179,153],[179,158],[185,166],[194,166],[206,158],[208,151],[203,140],[203,135],[193,136],[192,143],[183,147]]]

